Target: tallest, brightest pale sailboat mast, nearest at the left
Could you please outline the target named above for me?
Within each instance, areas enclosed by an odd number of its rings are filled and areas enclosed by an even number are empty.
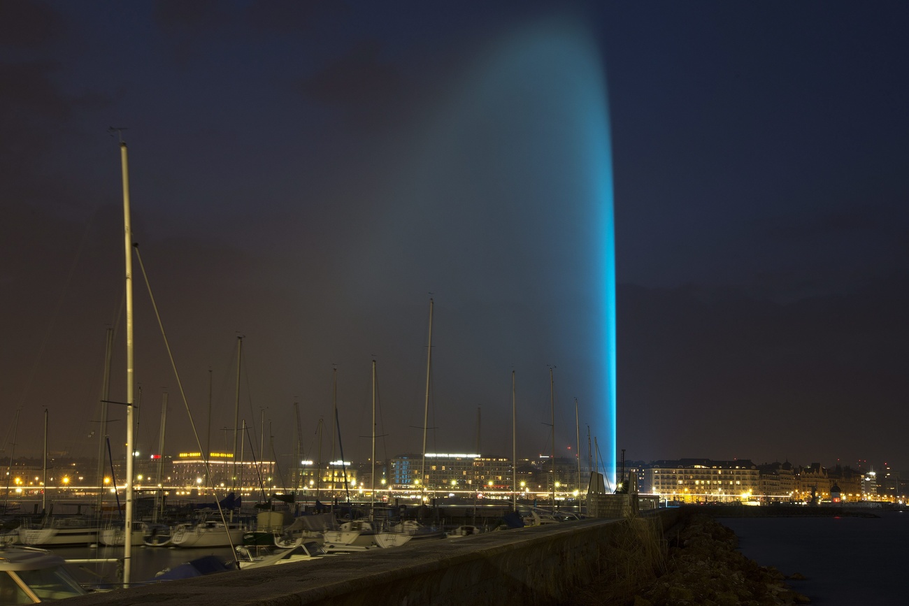
[[[120,142],[123,171],[123,230],[126,280],[126,516],[124,522],[123,584],[129,587],[133,554],[133,396],[135,392],[135,342],[133,340],[133,228],[129,214],[129,163],[125,141]]]

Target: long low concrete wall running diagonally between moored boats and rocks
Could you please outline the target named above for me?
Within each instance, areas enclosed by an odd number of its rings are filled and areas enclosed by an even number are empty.
[[[621,529],[619,521],[582,520],[412,541],[388,550],[95,593],[66,604],[543,606],[570,602],[575,587],[592,581]],[[187,560],[192,557],[188,550]]]

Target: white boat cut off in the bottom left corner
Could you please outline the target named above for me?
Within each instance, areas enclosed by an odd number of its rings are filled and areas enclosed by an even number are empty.
[[[0,543],[0,606],[36,604],[85,595],[50,551]]]

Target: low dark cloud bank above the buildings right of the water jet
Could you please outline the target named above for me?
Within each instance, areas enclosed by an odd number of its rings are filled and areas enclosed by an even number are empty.
[[[655,458],[892,456],[909,422],[907,303],[904,278],[787,304],[623,285],[620,434]],[[876,429],[834,431],[856,423]]]

